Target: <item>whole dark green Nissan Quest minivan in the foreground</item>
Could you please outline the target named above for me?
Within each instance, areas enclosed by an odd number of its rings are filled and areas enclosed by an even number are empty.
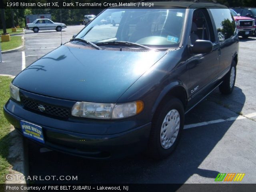
[[[120,11],[119,24],[102,24]],[[232,92],[238,42],[230,10],[217,3],[108,8],[14,78],[4,114],[56,151],[163,159],[190,109],[217,87]]]

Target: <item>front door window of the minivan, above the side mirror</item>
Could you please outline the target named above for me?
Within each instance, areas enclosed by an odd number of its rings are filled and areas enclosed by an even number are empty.
[[[206,9],[197,9],[193,13],[190,32],[191,44],[194,44],[196,40],[216,42],[212,22]]]

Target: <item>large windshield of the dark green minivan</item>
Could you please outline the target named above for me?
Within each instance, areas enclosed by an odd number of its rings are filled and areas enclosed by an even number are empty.
[[[155,48],[178,47],[185,12],[185,8],[110,8],[92,20],[76,38],[94,44],[124,41]],[[106,18],[110,21],[102,22]]]

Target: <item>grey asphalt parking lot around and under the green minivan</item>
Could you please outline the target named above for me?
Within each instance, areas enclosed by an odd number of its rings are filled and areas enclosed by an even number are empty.
[[[68,26],[62,32],[62,42],[67,42],[83,27]],[[10,72],[18,74],[22,67],[29,66],[60,43],[60,32],[26,30],[25,66],[20,63],[16,71]],[[156,162],[138,154],[123,160],[92,161],[48,151],[28,141],[29,174],[78,176],[77,181],[38,180],[36,183],[215,183],[218,173],[245,173],[240,183],[255,183],[255,53],[256,38],[241,38],[234,92],[223,96],[216,89],[186,114],[183,136],[169,158]]]

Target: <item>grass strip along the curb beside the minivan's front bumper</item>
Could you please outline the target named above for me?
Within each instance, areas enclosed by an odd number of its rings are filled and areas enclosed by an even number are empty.
[[[10,123],[6,120],[3,113],[3,106],[9,98],[9,84],[12,81],[10,77],[0,76],[0,183],[5,182],[5,176],[8,174],[10,164],[7,161],[9,154]]]

